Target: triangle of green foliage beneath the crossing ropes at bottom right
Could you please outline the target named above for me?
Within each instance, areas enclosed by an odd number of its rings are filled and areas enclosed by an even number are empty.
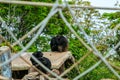
[[[81,80],[100,80],[100,79],[114,79],[117,80],[116,76],[105,66],[105,64],[100,64],[99,67],[91,71]]]

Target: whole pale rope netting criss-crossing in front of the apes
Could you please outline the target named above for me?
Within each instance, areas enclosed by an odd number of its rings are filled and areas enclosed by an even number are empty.
[[[1,0],[2,2],[2,0]],[[4,1],[3,1],[4,2]],[[8,1],[8,3],[10,3],[10,1]],[[20,2],[12,2],[14,4],[23,4]],[[29,5],[30,3],[28,3]],[[31,5],[31,4],[30,4]],[[35,4],[34,4],[35,5]],[[37,5],[37,4],[36,4]],[[38,4],[40,5],[40,4]],[[88,49],[88,52],[86,52],[86,54],[80,58],[79,60],[77,60],[72,66],[70,66],[69,68],[67,68],[62,74],[57,75],[56,73],[54,73],[53,71],[51,71],[50,69],[48,69],[46,66],[44,66],[41,62],[39,62],[34,56],[32,56],[32,58],[40,65],[42,66],[45,70],[47,70],[51,75],[55,76],[56,79],[60,79],[60,80],[64,80],[63,76],[65,74],[67,74],[68,72],[70,72],[74,67],[76,67],[80,62],[82,62],[85,58],[87,58],[89,55],[91,55],[90,53],[93,53],[96,57],[100,58],[100,60],[98,62],[96,62],[95,64],[93,64],[93,66],[89,67],[88,69],[86,69],[85,71],[83,71],[82,73],[79,73],[76,77],[73,78],[73,80],[78,80],[81,79],[81,77],[85,76],[86,74],[88,74],[89,72],[91,72],[92,70],[94,70],[97,66],[99,66],[102,62],[107,66],[107,68],[118,78],[120,79],[120,75],[119,73],[113,68],[113,66],[107,61],[107,58],[109,58],[111,56],[111,53],[114,53],[114,51],[120,46],[120,42],[117,43],[117,45],[115,45],[115,47],[113,47],[112,49],[110,49],[109,51],[107,51],[106,55],[102,55],[102,53],[96,48],[94,42],[91,39],[91,37],[85,32],[84,28],[80,26],[80,22],[78,20],[78,17],[76,16],[74,10],[72,9],[72,6],[70,6],[70,4],[68,4],[67,1],[64,1],[64,4],[62,4],[62,8],[60,8],[60,5],[58,0],[56,0],[56,2],[53,5],[48,5],[48,6],[52,6],[51,11],[49,12],[49,14],[47,15],[47,17],[42,20],[38,25],[36,25],[31,31],[29,31],[27,34],[25,34],[24,36],[22,36],[21,38],[16,38],[15,34],[11,31],[11,29],[8,27],[8,25],[6,24],[6,22],[2,19],[2,17],[0,17],[0,21],[2,23],[2,26],[6,29],[6,31],[10,34],[10,36],[14,39],[14,43],[13,44],[9,44],[9,46],[13,47],[15,45],[19,45],[22,50],[20,50],[19,52],[17,52],[16,55],[12,56],[9,60],[5,61],[4,63],[0,64],[1,66],[4,66],[8,63],[10,63],[11,61],[13,61],[14,59],[21,57],[27,64],[29,64],[29,62],[27,62],[22,56],[21,54],[23,54],[27,49],[30,48],[30,46],[36,41],[36,39],[39,37],[39,35],[42,33],[42,31],[44,30],[44,28],[46,27],[47,23],[49,22],[49,20],[51,19],[52,16],[54,16],[56,13],[59,13],[61,19],[63,20],[63,22],[67,25],[67,27],[69,28],[69,30],[72,32],[72,34],[74,34],[74,36],[79,40],[80,43],[82,43],[84,45],[85,48]],[[80,37],[80,35],[77,34],[77,32],[74,30],[74,28],[72,27],[73,24],[69,23],[66,19],[66,17],[63,14],[63,9],[67,8],[71,17],[73,18],[75,25],[78,27],[79,31],[82,32],[86,42]],[[76,7],[77,8],[77,7]],[[81,7],[81,8],[85,8],[85,9],[89,9],[91,7]],[[96,7],[93,7],[96,8]],[[104,9],[104,8],[98,8],[98,9]],[[105,8],[108,9],[108,8]],[[113,9],[113,8],[111,8]],[[115,8],[116,9],[116,8]],[[117,10],[120,10],[119,8],[117,8]],[[84,26],[84,25],[82,25]],[[111,33],[113,33],[115,30],[117,30],[119,28],[120,24],[118,24]],[[26,46],[24,46],[20,41],[24,40],[27,36],[31,35],[32,33],[36,32],[36,35],[28,42],[28,44],[26,44]],[[115,32],[114,32],[115,33]],[[5,41],[3,36],[0,36],[0,38],[2,40]],[[7,41],[6,41],[7,42]],[[4,53],[6,50],[3,50],[2,52],[0,52],[0,54]],[[31,64],[29,64],[31,65]],[[32,65],[31,65],[32,66]],[[34,66],[32,66],[33,68],[35,68]],[[36,69],[36,68],[35,68]],[[52,79],[50,76],[44,74],[43,72],[39,71],[38,69],[36,69],[39,73],[41,73],[42,75],[44,75],[47,79]]]

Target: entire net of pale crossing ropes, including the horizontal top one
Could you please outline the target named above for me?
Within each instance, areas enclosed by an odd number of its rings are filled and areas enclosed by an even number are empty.
[[[52,74],[53,76],[55,76],[57,79],[59,80],[63,80],[62,76],[64,76],[65,74],[67,74],[70,70],[72,70],[75,66],[77,66],[78,64],[80,64],[81,61],[83,61],[87,56],[90,55],[90,53],[94,53],[96,56],[98,56],[100,58],[100,60],[98,62],[96,62],[96,64],[94,64],[93,66],[91,66],[89,69],[87,69],[86,71],[84,71],[83,73],[79,74],[78,76],[76,76],[73,80],[78,80],[79,78],[83,77],[84,75],[86,75],[87,73],[89,73],[90,71],[92,71],[93,69],[95,69],[101,62],[104,62],[106,64],[106,66],[114,73],[115,76],[117,76],[118,79],[120,79],[120,75],[113,69],[120,69],[119,67],[114,66],[113,64],[107,62],[106,58],[108,58],[111,53],[117,49],[120,46],[120,42],[118,42],[118,44],[111,50],[108,51],[108,53],[103,56],[94,46],[94,43],[92,41],[89,40],[89,36],[86,34],[86,32],[84,31],[84,29],[82,27],[79,26],[79,23],[77,21],[76,16],[73,14],[72,12],[72,8],[85,8],[85,9],[104,9],[104,10],[120,10],[120,8],[114,8],[114,7],[94,7],[94,6],[79,6],[79,5],[69,5],[66,1],[65,1],[65,5],[63,4],[58,4],[58,0],[56,0],[56,3],[53,5],[53,3],[43,3],[43,2],[30,2],[30,1],[7,1],[7,0],[0,0],[0,3],[9,3],[9,4],[19,4],[19,5],[32,5],[32,6],[46,6],[46,7],[52,7],[50,13],[48,14],[48,16],[41,21],[37,26],[35,26],[31,31],[29,31],[27,34],[25,34],[23,37],[17,39],[14,34],[12,33],[12,31],[8,28],[8,26],[6,25],[5,21],[0,17],[0,21],[2,22],[2,26],[4,26],[6,28],[6,30],[8,31],[8,33],[12,36],[12,38],[15,40],[15,42],[9,46],[12,49],[13,46],[15,45],[19,45],[22,50],[19,51],[16,55],[14,55],[11,59],[9,59],[8,61],[4,62],[3,64],[0,64],[0,67],[10,63],[12,60],[14,60],[15,58],[19,57],[22,58],[27,64],[29,64],[31,67],[35,68],[34,66],[32,66],[29,62],[27,62],[22,56],[21,54],[26,51],[33,43],[34,41],[38,38],[38,36],[41,34],[41,32],[43,31],[43,29],[45,28],[46,24],[48,23],[49,19],[57,12],[59,12],[62,20],[65,22],[65,24],[67,25],[67,27],[70,29],[70,31],[78,38],[78,40],[89,50],[89,52],[87,52],[81,59],[79,59],[76,63],[74,63],[70,68],[68,68],[67,70],[65,70],[60,76],[58,76],[57,74],[53,73],[51,70],[49,70],[48,68],[46,68],[41,62],[39,62],[34,56],[32,56],[32,58],[40,65],[42,66],[46,71],[48,71],[50,74]],[[76,21],[77,26],[79,27],[80,31],[84,33],[84,36],[86,37],[87,42],[90,44],[90,46],[84,42],[84,40],[82,38],[80,38],[80,36],[75,32],[75,30],[72,28],[71,24],[67,21],[67,19],[64,17],[63,13],[62,13],[62,9],[63,8],[67,8],[68,11],[70,11],[73,19]],[[115,28],[113,28],[114,30],[117,30],[120,27],[120,24],[118,24]],[[24,47],[23,44],[20,43],[20,41],[24,40],[25,38],[27,38],[27,36],[31,35],[33,32],[35,32],[36,30],[38,30],[38,32],[36,33],[36,35],[32,38],[32,40]],[[112,32],[113,32],[112,31]],[[0,38],[2,38],[2,36],[0,35]],[[107,38],[105,38],[107,39]],[[5,42],[7,42],[5,39],[3,39]],[[102,41],[102,40],[101,40]],[[0,55],[2,53],[4,53],[6,50],[0,52]],[[112,67],[111,67],[112,66]],[[36,69],[37,70],[37,69]],[[40,72],[39,70],[37,70],[39,73],[41,73],[42,75],[44,75],[47,79],[51,78]]]

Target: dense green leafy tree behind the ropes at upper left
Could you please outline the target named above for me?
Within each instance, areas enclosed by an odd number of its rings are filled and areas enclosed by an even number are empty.
[[[55,0],[29,0],[29,1],[43,1],[43,2],[55,2]],[[9,5],[9,6],[8,6]],[[38,6],[23,6],[23,5],[13,5],[13,4],[1,4],[2,8],[0,10],[2,18],[6,21],[9,28],[13,33],[16,33],[15,36],[19,39],[24,34],[28,33],[32,28],[34,28],[39,22],[41,22],[50,12],[49,7],[38,7]],[[66,10],[64,10],[66,12]],[[65,13],[66,14],[66,13]],[[68,18],[69,19],[69,18]],[[9,33],[6,33],[4,27],[1,27],[2,35],[6,37],[11,43],[14,40],[11,38]],[[50,38],[56,34],[67,34],[68,28],[64,25],[64,22],[60,18],[59,14],[55,14],[50,21],[47,23],[42,35],[35,42],[34,50],[37,47],[40,47],[40,50],[46,51],[49,50],[48,41]],[[28,43],[35,33],[29,36],[27,39],[22,41],[22,44],[25,45]],[[48,36],[46,38],[46,36]],[[51,36],[51,37],[50,37]],[[40,44],[42,45],[40,46]],[[45,48],[44,48],[45,47]],[[35,49],[35,50],[36,50]]]

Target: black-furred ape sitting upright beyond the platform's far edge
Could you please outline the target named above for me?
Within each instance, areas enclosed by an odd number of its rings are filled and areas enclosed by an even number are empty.
[[[51,39],[50,42],[51,51],[64,52],[68,49],[68,40],[62,36],[58,35]]]

